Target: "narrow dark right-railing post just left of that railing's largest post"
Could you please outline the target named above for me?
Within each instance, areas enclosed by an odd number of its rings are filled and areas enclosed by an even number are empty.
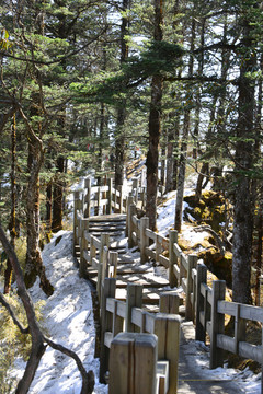
[[[206,329],[203,327],[199,318],[201,311],[205,310],[204,298],[201,294],[201,283],[207,281],[207,267],[202,263],[197,264],[197,278],[196,278],[196,323],[195,323],[195,340],[205,343]]]

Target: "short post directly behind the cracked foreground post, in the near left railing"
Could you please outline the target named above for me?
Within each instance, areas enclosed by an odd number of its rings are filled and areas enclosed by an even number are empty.
[[[127,285],[126,296],[126,318],[125,318],[125,331],[134,333],[138,331],[132,323],[132,309],[141,308],[142,305],[142,286],[141,285]]]

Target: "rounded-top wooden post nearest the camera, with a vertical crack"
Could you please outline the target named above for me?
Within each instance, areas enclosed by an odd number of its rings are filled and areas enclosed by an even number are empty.
[[[119,333],[110,354],[108,394],[155,394],[157,337]]]

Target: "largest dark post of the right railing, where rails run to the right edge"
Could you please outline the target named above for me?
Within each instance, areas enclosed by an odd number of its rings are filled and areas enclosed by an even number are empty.
[[[224,366],[224,350],[217,347],[217,335],[224,334],[225,315],[217,312],[217,302],[225,300],[225,280],[214,280],[211,291],[210,369]]]

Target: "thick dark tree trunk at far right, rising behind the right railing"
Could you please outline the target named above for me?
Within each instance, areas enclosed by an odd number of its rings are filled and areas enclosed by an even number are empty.
[[[236,196],[233,206],[232,247],[232,300],[251,303],[250,277],[253,233],[253,210],[251,200],[251,178],[248,173],[253,166],[252,131],[254,128],[254,81],[248,73],[254,69],[249,21],[243,21],[243,57],[239,78],[239,118],[236,144]]]

